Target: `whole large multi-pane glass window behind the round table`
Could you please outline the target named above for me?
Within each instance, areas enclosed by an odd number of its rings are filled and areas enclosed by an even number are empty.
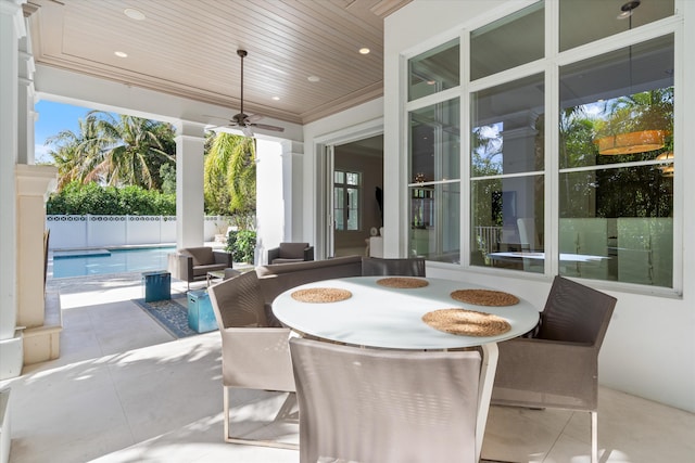
[[[464,265],[677,287],[674,0],[553,5],[538,1],[463,31],[469,61],[460,66],[453,55],[433,59],[459,53],[458,41],[409,63],[409,252],[458,262],[466,223]],[[642,27],[655,22],[664,31]],[[548,26],[559,37],[546,36]],[[614,35],[620,44],[605,40]],[[460,85],[429,89],[415,77],[438,67],[460,73]],[[456,92],[437,100],[456,85],[465,107]],[[469,116],[463,151],[459,111]]]

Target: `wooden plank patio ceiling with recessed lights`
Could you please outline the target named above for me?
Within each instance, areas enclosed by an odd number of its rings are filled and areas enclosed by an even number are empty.
[[[244,49],[244,112],[306,124],[382,94],[383,18],[408,2],[29,0],[25,12],[37,63],[226,106],[227,118]]]

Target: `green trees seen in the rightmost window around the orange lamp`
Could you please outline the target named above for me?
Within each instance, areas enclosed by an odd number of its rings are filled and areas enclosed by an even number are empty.
[[[653,160],[673,150],[672,137],[658,151],[601,155],[595,140],[640,130],[672,133],[673,87],[654,89],[604,103],[589,116],[583,106],[571,107],[560,118],[560,168],[616,165]],[[659,166],[606,168],[560,176],[561,217],[670,217],[673,181]]]

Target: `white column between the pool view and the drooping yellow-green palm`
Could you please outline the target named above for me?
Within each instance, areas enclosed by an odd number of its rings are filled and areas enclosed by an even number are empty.
[[[204,244],[204,126],[181,121],[176,137],[176,247]]]

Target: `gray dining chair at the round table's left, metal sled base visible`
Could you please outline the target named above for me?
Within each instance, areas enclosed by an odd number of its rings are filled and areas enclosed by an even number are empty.
[[[288,338],[290,330],[268,327],[256,272],[250,271],[210,287],[222,334],[225,441],[296,449],[295,443],[233,437],[229,432],[231,388],[294,393]]]

